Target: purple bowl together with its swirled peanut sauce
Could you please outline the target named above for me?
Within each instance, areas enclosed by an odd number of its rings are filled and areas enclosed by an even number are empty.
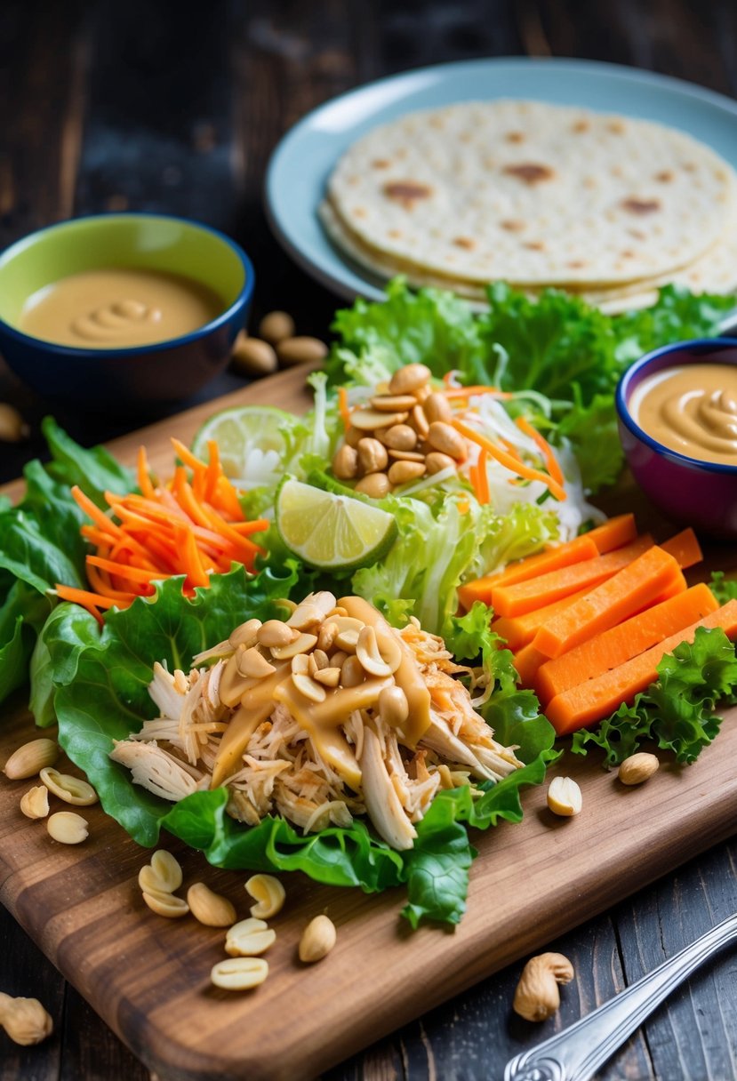
[[[737,338],[647,353],[616,393],[632,475],[665,515],[737,537]]]

